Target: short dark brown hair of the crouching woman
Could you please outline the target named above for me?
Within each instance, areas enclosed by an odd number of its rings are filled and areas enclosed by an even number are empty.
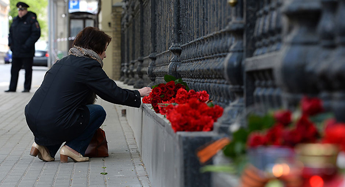
[[[73,45],[93,50],[102,54],[110,43],[111,37],[96,27],[86,27],[80,31],[73,41]]]

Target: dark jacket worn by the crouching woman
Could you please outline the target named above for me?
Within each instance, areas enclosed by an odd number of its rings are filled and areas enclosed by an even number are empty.
[[[118,87],[96,60],[69,55],[49,69],[25,107],[35,142],[56,145],[79,136],[89,123],[86,104],[93,92],[114,104],[141,104],[138,90]]]

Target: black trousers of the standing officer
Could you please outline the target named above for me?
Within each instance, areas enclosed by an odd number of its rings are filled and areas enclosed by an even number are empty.
[[[32,79],[32,63],[33,57],[12,58],[10,90],[15,91],[17,89],[19,71],[23,65],[25,69],[24,89],[30,90]]]

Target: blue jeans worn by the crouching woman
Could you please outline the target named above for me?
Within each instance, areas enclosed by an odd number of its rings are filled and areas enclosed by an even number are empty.
[[[65,145],[74,149],[84,156],[86,149],[88,148],[93,134],[106,120],[106,111],[100,105],[86,105],[90,111],[90,120],[88,126],[84,132],[78,137],[66,142]],[[49,149],[49,153],[52,157],[55,157],[56,152],[61,145],[46,146]]]

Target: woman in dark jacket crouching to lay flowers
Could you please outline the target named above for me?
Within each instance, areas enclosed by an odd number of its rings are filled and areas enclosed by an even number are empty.
[[[120,105],[140,107],[140,97],[151,88],[123,89],[103,71],[103,59],[111,37],[98,28],[80,31],[69,55],[58,60],[25,107],[27,124],[35,142],[30,155],[53,161],[60,146],[60,161],[89,161],[85,151],[95,131],[103,124],[106,111],[90,104],[94,95]]]

